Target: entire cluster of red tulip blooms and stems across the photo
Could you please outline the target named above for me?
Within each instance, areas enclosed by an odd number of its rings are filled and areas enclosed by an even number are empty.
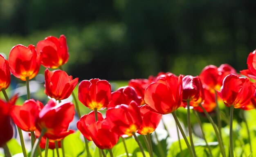
[[[135,134],[138,133],[148,136],[149,141],[145,140],[145,142],[148,142],[148,152],[150,157],[153,157],[150,134],[159,125],[162,115],[171,113],[186,142],[190,156],[194,157],[196,153],[190,124],[190,109],[195,111],[195,115],[197,112],[204,113],[213,123],[208,113],[216,110],[216,116],[219,116],[218,100],[222,100],[227,107],[231,108],[230,119],[233,119],[234,108],[249,110],[253,105],[256,106],[255,83],[249,80],[249,78],[256,80],[255,57],[255,51],[250,53],[247,60],[248,69],[240,71],[247,77],[241,77],[228,64],[222,64],[220,67],[208,65],[198,76],[177,76],[170,72],[160,72],[157,76],[149,76],[148,79],[132,79],[128,82],[128,86],[111,92],[111,85],[107,80],[95,78],[82,80],[79,83],[78,78],[73,79],[63,71],[62,66],[69,58],[64,35],[60,38],[49,36],[39,41],[36,47],[20,44],[13,46],[8,60],[0,55],[0,91],[7,101],[0,100],[0,147],[8,151],[6,143],[13,137],[11,121],[18,129],[30,133],[33,147],[31,157],[34,157],[38,145],[45,150],[48,147],[50,149],[63,147],[61,141],[75,132],[69,129],[69,125],[76,113],[76,106],[79,116],[76,126],[85,137],[85,145],[88,147],[87,142],[93,141],[99,148],[100,155],[104,153],[100,149],[106,149],[112,157],[111,149],[117,144],[119,138],[124,140],[134,136],[145,157]],[[45,105],[31,99],[29,94],[29,80],[38,74],[40,65],[46,68],[45,93],[51,98]],[[48,68],[55,70],[50,71]],[[5,91],[11,83],[11,73],[27,83],[27,100],[22,105],[16,105],[17,95],[9,100]],[[78,83],[79,101],[92,110],[83,116],[73,93]],[[75,100],[75,106],[70,101],[62,102],[71,94]],[[187,109],[190,143],[175,114],[180,107]],[[106,109],[106,116],[101,113],[104,109]],[[224,146],[219,135],[221,126],[220,130],[216,129],[215,124],[213,127],[219,142],[220,153],[225,157]],[[229,148],[230,155],[233,157],[231,120],[230,130]],[[22,143],[22,140],[20,142]],[[211,152],[210,148],[209,152]],[[27,157],[25,149],[23,155]],[[87,155],[90,156],[88,150]],[[129,156],[128,153],[127,156]]]

